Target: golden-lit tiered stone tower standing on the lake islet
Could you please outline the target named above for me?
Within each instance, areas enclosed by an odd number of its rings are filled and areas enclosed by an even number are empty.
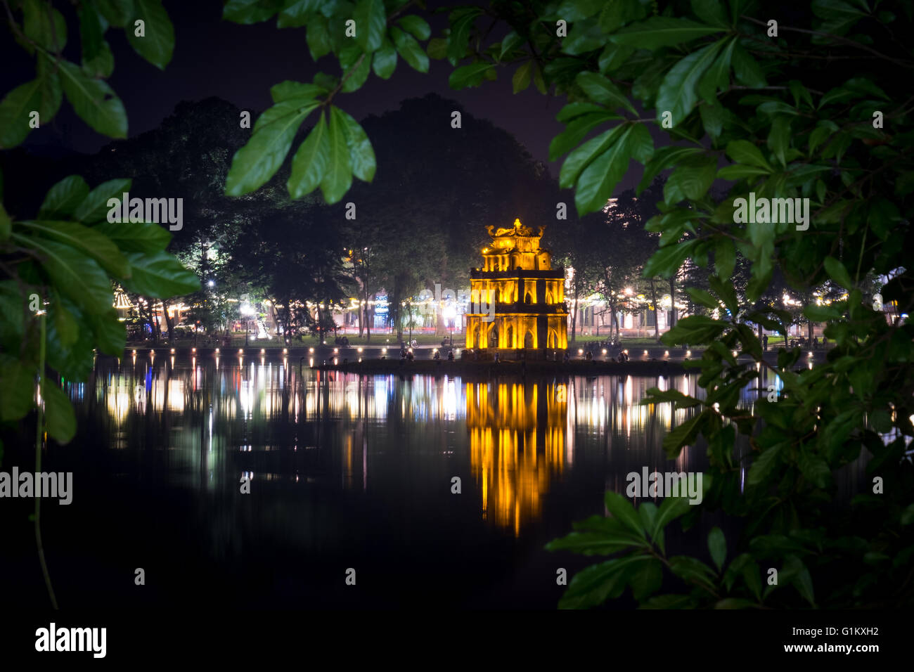
[[[552,268],[552,255],[539,247],[543,229],[527,229],[515,219],[511,229],[487,227],[492,245],[484,266],[470,271],[471,313],[466,315],[466,347],[531,358],[568,347],[565,270]],[[494,304],[494,319],[486,310]]]

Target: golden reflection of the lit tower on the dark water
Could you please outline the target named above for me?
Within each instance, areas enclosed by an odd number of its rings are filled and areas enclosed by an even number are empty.
[[[517,536],[539,517],[549,480],[565,464],[567,412],[562,385],[466,383],[470,465],[484,519]]]

